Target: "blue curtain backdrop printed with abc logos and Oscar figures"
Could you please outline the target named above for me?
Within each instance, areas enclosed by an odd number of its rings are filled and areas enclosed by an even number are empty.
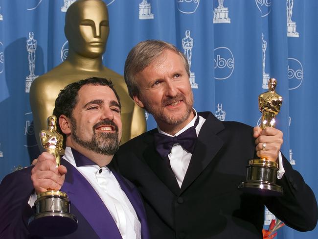
[[[0,0],[0,179],[37,157],[28,89],[68,53],[65,12],[74,0]],[[123,74],[129,50],[161,39],[191,63],[197,111],[256,125],[269,77],[284,102],[282,152],[318,195],[317,0],[105,0],[103,62]],[[156,126],[146,113],[148,129]],[[315,126],[316,125],[316,126]],[[266,223],[273,215],[266,213]],[[267,227],[267,226],[266,226]],[[285,226],[279,239],[318,238]]]

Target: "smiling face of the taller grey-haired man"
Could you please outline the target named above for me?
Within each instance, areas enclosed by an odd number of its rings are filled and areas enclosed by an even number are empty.
[[[181,56],[165,50],[157,60],[136,74],[139,96],[134,96],[157,121],[185,126],[192,119],[193,94]]]

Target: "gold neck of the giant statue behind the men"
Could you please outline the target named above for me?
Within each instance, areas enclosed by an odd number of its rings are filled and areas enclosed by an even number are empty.
[[[71,48],[68,51],[67,60],[75,69],[87,72],[97,72],[103,69],[102,55],[96,58],[88,58],[74,52]]]

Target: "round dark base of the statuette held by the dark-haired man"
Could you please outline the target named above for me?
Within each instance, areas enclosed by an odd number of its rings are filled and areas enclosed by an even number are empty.
[[[78,227],[77,218],[69,213],[70,201],[62,191],[45,191],[34,203],[36,214],[28,222],[32,234],[42,237],[59,237],[73,233]]]

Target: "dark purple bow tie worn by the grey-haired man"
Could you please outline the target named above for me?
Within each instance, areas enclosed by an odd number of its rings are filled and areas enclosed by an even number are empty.
[[[197,132],[195,128],[199,123],[197,117],[193,126],[182,132],[178,136],[168,136],[160,133],[154,134],[156,150],[164,159],[171,152],[171,148],[175,143],[179,143],[186,151],[193,153],[195,143],[197,142]]]

